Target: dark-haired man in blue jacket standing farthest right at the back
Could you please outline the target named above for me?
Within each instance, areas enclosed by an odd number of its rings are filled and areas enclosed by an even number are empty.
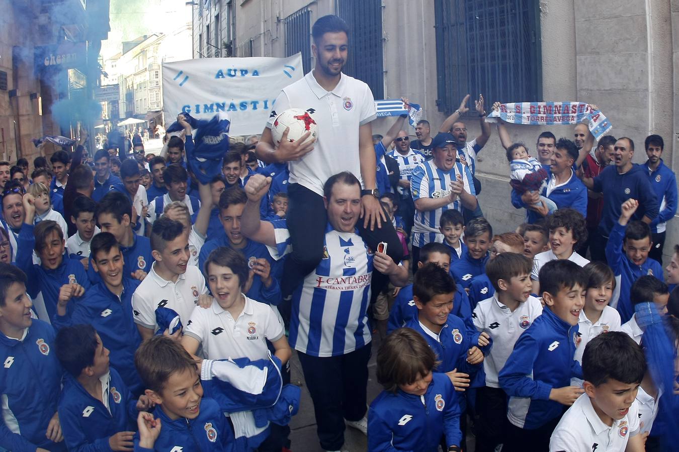
[[[669,169],[661,155],[665,142],[659,135],[649,135],[644,142],[648,160],[644,164],[648,170],[648,182],[653,187],[655,197],[659,203],[658,216],[650,223],[650,232],[653,234],[653,248],[648,256],[658,262],[663,262],[663,247],[665,246],[665,230],[667,222],[674,218],[677,213],[677,180],[674,171]]]

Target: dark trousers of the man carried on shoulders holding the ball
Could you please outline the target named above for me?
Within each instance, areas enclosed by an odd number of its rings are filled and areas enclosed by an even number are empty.
[[[323,197],[304,186],[291,184],[288,187],[287,222],[293,251],[283,264],[280,283],[283,297],[291,295],[323,258],[323,239],[328,222]],[[370,249],[374,251],[378,248],[378,243],[386,242],[387,254],[397,264],[401,262],[403,246],[391,222],[382,222],[382,228],[370,230],[363,228],[361,219],[356,227]],[[386,276],[377,270],[373,271],[373,291],[379,292],[387,282]]]

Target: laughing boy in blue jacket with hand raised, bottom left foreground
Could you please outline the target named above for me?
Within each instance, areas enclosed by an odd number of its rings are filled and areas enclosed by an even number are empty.
[[[141,344],[134,361],[156,405],[153,414],[137,418],[135,451],[234,450],[229,422],[215,400],[202,398],[196,361],[179,343],[153,336]]]

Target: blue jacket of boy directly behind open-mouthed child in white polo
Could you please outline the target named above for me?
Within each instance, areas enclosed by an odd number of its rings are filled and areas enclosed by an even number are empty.
[[[253,285],[250,287],[250,290],[245,295],[251,297],[253,300],[257,300],[258,302],[270,304],[272,306],[278,306],[278,304],[280,304],[281,301],[280,285],[278,283],[278,279],[280,279],[280,272],[282,271],[282,266],[280,262],[276,262],[271,258],[269,250],[266,248],[265,245],[253,242],[250,239],[245,240],[247,241],[247,245],[245,245],[243,249],[239,249],[238,251],[243,253],[246,260],[248,260],[251,257],[257,259],[265,258],[266,260],[268,260],[269,264],[271,265],[271,275],[273,279],[271,287],[265,287],[261,282],[261,277],[258,274],[255,274],[255,276],[253,277]],[[208,279],[208,276],[205,273],[204,265],[205,261],[208,259],[208,255],[210,255],[210,252],[218,247],[229,247],[229,246],[230,246],[229,238],[226,236],[226,232],[223,232],[222,230],[221,237],[217,237],[215,239],[207,241],[205,245],[203,245],[203,247],[200,249],[200,254],[198,255],[198,268],[200,268],[200,271],[203,272],[203,275],[205,276],[206,280]]]

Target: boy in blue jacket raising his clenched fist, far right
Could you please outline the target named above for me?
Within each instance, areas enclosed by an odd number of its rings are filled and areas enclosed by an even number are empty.
[[[653,247],[650,228],[644,222],[629,222],[638,207],[636,199],[628,199],[622,204],[622,213],[606,244],[606,260],[616,282],[610,306],[618,310],[622,323],[629,321],[634,314],[634,307],[629,302],[629,290],[634,281],[646,274],[663,281],[663,267],[648,257]]]

